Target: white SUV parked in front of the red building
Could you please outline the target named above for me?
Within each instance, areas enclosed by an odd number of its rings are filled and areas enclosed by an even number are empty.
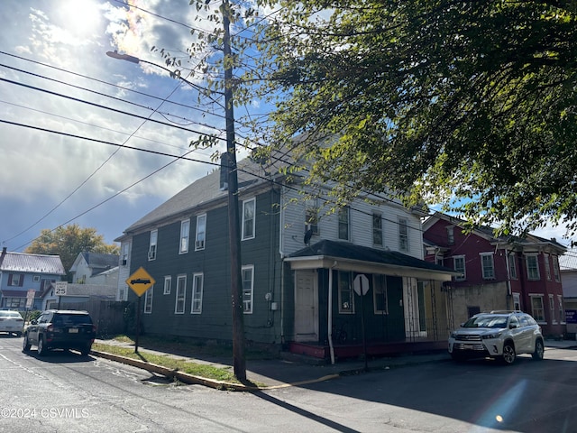
[[[449,354],[456,361],[490,356],[513,364],[517,354],[543,359],[541,327],[522,311],[491,311],[467,320],[449,336]]]

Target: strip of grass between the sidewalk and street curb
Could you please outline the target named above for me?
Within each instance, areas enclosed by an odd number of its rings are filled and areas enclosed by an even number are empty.
[[[140,345],[140,341],[139,341]],[[212,379],[216,381],[240,383],[234,373],[231,371],[231,367],[215,367],[210,364],[198,364],[193,363],[174,355],[155,355],[150,353],[138,354],[134,353],[133,348],[121,347],[117,345],[106,345],[102,343],[95,343],[92,345],[93,350],[106,352],[112,355],[120,355],[127,358],[137,359],[150,364],[157,364],[163,367],[170,368],[172,370],[178,370],[182,373],[193,374],[196,376],[204,377],[206,379]]]

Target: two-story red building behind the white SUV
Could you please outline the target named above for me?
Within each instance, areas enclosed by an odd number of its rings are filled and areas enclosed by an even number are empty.
[[[461,272],[446,284],[453,325],[480,311],[517,309],[536,318],[545,336],[566,332],[555,239],[493,235],[490,227],[464,229],[458,218],[436,213],[423,225],[426,260]]]

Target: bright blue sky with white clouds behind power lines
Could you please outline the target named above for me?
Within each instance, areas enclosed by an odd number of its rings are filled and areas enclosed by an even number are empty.
[[[188,3],[3,2],[0,243],[8,251],[23,251],[42,229],[69,224],[94,227],[112,244],[215,170],[215,149],[189,143],[202,133],[224,138],[222,111],[199,103],[194,88],[158,66],[106,55],[118,51],[165,66],[156,47],[186,69],[195,62],[187,55],[191,28],[212,25]],[[188,77],[202,84],[196,79]],[[563,226],[533,233],[569,244]]]

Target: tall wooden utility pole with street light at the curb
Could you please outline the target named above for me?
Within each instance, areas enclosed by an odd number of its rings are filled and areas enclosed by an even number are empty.
[[[224,116],[226,118],[226,152],[228,152],[228,234],[231,254],[231,298],[233,305],[234,375],[246,380],[244,358],[243,276],[241,272],[241,227],[238,208],[238,176],[236,170],[236,139],[234,136],[233,60],[231,52],[230,14],[228,0],[221,6],[224,23]]]

